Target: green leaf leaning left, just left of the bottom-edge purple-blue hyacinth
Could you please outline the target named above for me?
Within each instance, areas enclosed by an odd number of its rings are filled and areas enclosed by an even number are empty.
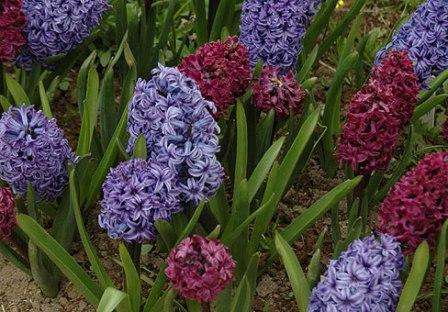
[[[275,234],[275,248],[280,254],[283,265],[288,273],[299,311],[307,312],[310,288],[299,259],[297,259],[294,250],[288,245],[288,242],[279,233]]]

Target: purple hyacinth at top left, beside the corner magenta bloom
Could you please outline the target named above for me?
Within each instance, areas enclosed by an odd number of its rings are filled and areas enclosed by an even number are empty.
[[[24,0],[29,51],[44,60],[72,50],[90,35],[107,9],[107,0]]]

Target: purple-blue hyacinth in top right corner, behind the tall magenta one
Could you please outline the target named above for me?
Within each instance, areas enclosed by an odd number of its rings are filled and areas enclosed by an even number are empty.
[[[448,1],[428,0],[420,5],[393,36],[392,41],[377,54],[377,62],[388,50],[407,50],[420,82],[448,68]]]

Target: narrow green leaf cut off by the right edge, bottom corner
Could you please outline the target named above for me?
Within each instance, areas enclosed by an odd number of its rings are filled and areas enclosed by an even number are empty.
[[[439,312],[442,308],[440,304],[442,300],[443,275],[445,272],[447,232],[448,220],[445,221],[442,229],[440,230],[439,242],[437,244],[436,272],[434,274],[434,296],[432,297],[433,312]]]

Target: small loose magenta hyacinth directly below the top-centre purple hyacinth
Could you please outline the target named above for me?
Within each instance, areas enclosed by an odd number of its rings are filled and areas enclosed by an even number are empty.
[[[274,109],[280,118],[302,112],[306,92],[291,70],[282,74],[279,67],[265,66],[260,79],[254,82],[252,90],[253,103],[260,110]]]

